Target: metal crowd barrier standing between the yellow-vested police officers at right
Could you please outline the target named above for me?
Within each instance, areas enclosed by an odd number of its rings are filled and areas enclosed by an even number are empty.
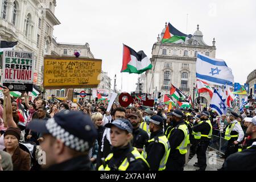
[[[208,147],[215,150],[218,155],[224,155],[228,145],[228,140],[224,139],[224,135],[223,131],[217,129],[212,132],[212,139]]]

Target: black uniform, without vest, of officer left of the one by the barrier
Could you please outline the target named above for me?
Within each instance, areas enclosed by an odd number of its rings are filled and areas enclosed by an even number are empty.
[[[185,125],[185,122],[181,119],[174,123],[175,128],[171,131],[170,138],[168,138],[171,150],[166,163],[166,171],[183,171],[185,164],[185,154],[180,154],[180,151],[176,149],[185,137],[184,132],[178,129],[179,125]]]

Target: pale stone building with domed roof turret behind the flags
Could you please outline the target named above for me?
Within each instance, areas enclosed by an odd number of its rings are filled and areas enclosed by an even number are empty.
[[[167,23],[166,23],[167,27]],[[212,46],[204,42],[203,33],[197,25],[192,38],[185,43],[161,43],[166,27],[152,47],[152,69],[146,71],[143,92],[170,94],[170,86],[182,90],[193,99],[193,88],[196,86],[196,56],[203,53],[215,58],[216,47],[213,38]],[[200,94],[201,103],[209,105],[209,94]]]

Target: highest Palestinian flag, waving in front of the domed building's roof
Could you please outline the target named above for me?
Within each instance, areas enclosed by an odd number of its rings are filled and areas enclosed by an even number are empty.
[[[172,36],[171,36],[172,34]],[[162,43],[185,43],[192,35],[186,35],[168,23],[162,39]]]

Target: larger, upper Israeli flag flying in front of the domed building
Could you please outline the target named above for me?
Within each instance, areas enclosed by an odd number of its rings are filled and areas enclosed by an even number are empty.
[[[196,77],[209,84],[233,87],[234,76],[225,61],[213,59],[201,53],[197,53]]]

